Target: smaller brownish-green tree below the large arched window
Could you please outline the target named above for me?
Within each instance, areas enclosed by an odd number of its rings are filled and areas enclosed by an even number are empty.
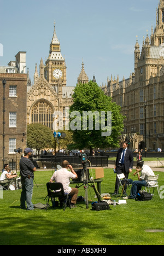
[[[42,124],[27,125],[27,147],[39,151],[51,147],[52,131],[49,127]]]

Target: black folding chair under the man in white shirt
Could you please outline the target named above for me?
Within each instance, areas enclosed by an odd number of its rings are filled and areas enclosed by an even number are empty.
[[[69,194],[65,193],[62,183],[59,183],[59,182],[50,183],[50,182],[48,182],[48,183],[46,183],[46,187],[47,187],[48,195],[45,197],[45,199],[48,197],[48,203],[49,203],[49,200],[51,199],[52,206],[54,207],[53,199],[56,198],[56,197],[59,197],[59,198],[61,197],[61,198],[66,200],[64,211],[66,210],[67,202],[69,204],[69,208],[71,208],[70,201],[69,201],[69,198],[68,198]],[[48,203],[47,203],[47,206],[48,206]],[[46,210],[47,210],[47,207],[46,207]]]

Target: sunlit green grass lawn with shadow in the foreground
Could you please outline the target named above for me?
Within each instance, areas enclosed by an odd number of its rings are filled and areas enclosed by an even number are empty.
[[[155,173],[157,174],[157,172]],[[160,172],[159,185],[164,185],[164,173]],[[47,194],[46,182],[52,171],[38,171],[34,185],[33,203],[42,202]],[[130,178],[136,179],[130,174]],[[104,170],[102,193],[114,192],[115,174]],[[148,229],[164,230],[163,205],[157,191],[153,200],[137,202],[127,200],[126,205],[111,206],[112,211],[91,211],[95,191],[89,189],[89,210],[85,202],[74,209],[60,207],[48,211],[20,210],[21,190],[4,191],[0,199],[0,245],[163,245],[164,232],[150,233]],[[84,188],[79,195],[84,196]],[[116,197],[113,200],[118,201]],[[92,200],[92,201],[91,201]]]

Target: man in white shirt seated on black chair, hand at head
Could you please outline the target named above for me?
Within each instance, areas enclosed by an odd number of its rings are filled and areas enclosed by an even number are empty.
[[[71,172],[67,171],[68,169],[71,170]],[[62,162],[62,169],[57,170],[54,172],[53,176],[50,179],[50,182],[60,182],[63,185],[63,189],[66,194],[69,194],[72,196],[71,199],[71,208],[76,207],[75,204],[77,203],[77,197],[78,197],[78,189],[77,188],[71,188],[69,187],[70,179],[77,179],[77,173],[73,170],[72,166],[69,165],[68,161]]]

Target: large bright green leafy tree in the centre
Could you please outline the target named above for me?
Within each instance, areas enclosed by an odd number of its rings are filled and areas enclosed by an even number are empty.
[[[124,116],[120,113],[121,107],[112,102],[112,98],[104,95],[104,92],[96,84],[90,81],[88,84],[79,84],[74,89],[73,105],[70,107],[71,113],[78,111],[81,117],[77,117],[77,123],[79,122],[81,129],[77,125],[77,130],[73,132],[74,147],[83,149],[90,148],[90,155],[93,148],[105,148],[105,147],[119,147],[119,136],[124,128]],[[102,136],[103,130],[96,129],[97,117],[93,115],[93,129],[89,129],[89,117],[87,116],[87,127],[83,129],[84,112],[96,112],[99,117],[101,112],[105,112],[105,121],[107,127],[107,112],[112,112],[112,134],[110,136]],[[71,119],[73,120],[73,119]],[[100,121],[101,124],[101,121]],[[102,124],[101,124],[102,125]],[[100,126],[101,126],[100,125]],[[79,130],[78,130],[79,129]]]

